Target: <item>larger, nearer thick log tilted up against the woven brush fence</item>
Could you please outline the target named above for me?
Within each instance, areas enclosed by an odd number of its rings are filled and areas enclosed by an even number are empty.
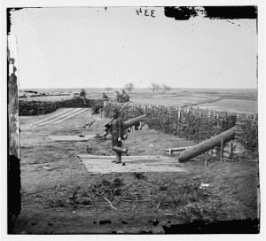
[[[217,136],[213,136],[210,139],[207,139],[206,141],[200,144],[196,144],[190,148],[187,148],[186,150],[184,150],[184,152],[180,154],[178,159],[180,161],[192,159],[204,152],[207,152],[210,149],[213,149],[218,144],[221,144],[222,139],[223,143],[231,141],[235,136],[235,129],[235,127],[230,128]]]

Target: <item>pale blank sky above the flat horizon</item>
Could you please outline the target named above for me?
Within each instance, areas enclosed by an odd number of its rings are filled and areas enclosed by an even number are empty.
[[[19,87],[256,88],[255,19],[175,20],[162,7],[12,12]]]

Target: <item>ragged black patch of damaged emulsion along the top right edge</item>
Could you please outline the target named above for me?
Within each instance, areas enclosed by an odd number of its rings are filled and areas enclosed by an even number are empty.
[[[257,19],[257,6],[165,7],[164,14],[176,20],[196,16],[208,19]]]

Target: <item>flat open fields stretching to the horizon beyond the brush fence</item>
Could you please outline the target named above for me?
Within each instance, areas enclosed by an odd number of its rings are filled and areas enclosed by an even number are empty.
[[[61,89],[64,90],[64,89]],[[68,89],[69,91],[69,89]],[[105,89],[87,89],[88,98],[101,98]],[[114,98],[113,91],[106,93]],[[170,94],[136,89],[129,96],[132,104],[141,105],[193,105],[193,107],[228,113],[257,113],[257,93],[255,89],[173,89]],[[51,96],[21,98],[20,100],[59,101],[72,97]],[[204,103],[195,105],[197,103]]]

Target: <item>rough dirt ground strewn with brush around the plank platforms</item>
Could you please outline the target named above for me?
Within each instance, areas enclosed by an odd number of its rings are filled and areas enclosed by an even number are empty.
[[[58,125],[29,125],[60,111],[20,117],[22,210],[12,233],[170,233],[174,227],[175,233],[200,233],[175,225],[259,218],[258,161],[220,162],[204,154],[183,163],[185,173],[90,175],[77,155],[113,155],[111,140],[59,143],[49,136],[102,133],[108,120],[88,111]],[[165,155],[164,148],[192,144],[148,128],[129,133],[125,142],[129,155]],[[231,225],[230,232],[248,230]]]

